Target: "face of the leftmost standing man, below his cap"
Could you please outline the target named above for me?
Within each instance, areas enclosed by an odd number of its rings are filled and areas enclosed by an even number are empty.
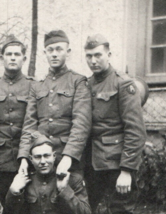
[[[6,47],[2,59],[5,69],[15,72],[21,70],[26,57],[21,52],[21,46],[16,45]]]

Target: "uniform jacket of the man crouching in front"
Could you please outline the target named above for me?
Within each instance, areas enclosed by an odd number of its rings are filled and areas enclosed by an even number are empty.
[[[21,195],[8,191],[4,214],[90,214],[82,177],[72,173],[69,185],[60,193],[55,172],[42,177],[34,174]]]

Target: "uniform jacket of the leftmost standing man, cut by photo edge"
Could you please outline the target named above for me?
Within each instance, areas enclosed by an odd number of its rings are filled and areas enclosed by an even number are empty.
[[[0,79],[0,171],[18,169],[17,154],[31,80],[21,72],[14,79],[6,74]]]

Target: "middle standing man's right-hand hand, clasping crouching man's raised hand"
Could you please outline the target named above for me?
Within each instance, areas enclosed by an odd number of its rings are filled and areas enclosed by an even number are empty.
[[[68,173],[68,170],[70,169],[72,164],[72,158],[69,156],[63,156],[62,160],[60,161],[60,163],[58,164],[57,170],[56,170],[56,174],[58,176],[64,176]]]

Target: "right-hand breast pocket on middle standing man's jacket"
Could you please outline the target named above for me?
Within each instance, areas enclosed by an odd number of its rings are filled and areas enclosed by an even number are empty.
[[[57,94],[61,116],[72,116],[74,91],[58,90]]]

